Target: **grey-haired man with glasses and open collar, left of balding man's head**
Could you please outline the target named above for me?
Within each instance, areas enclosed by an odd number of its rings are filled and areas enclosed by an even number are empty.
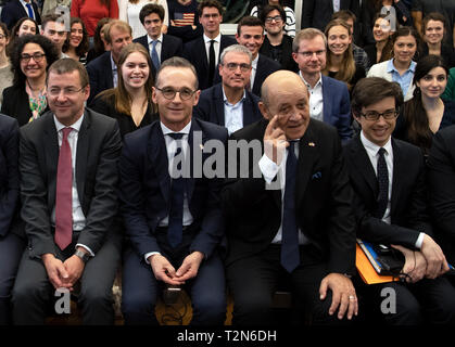
[[[218,66],[223,81],[201,92],[194,116],[224,126],[229,133],[260,120],[260,98],[245,90],[251,61],[251,52],[244,46],[226,48]]]

